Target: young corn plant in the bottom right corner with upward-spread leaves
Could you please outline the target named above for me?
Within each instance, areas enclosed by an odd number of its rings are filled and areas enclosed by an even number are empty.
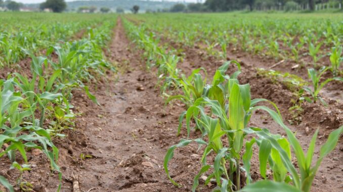
[[[260,144],[260,160],[264,159],[264,161],[260,161],[260,163],[263,163],[266,167],[266,160],[268,159],[269,164],[273,170],[274,181],[256,181],[254,183],[248,184],[240,191],[254,192],[260,191],[261,188],[264,188],[265,190],[270,191],[310,192],[318,168],[322,160],[336,147],[339,137],[343,133],[343,126],[340,126],[337,130],[329,134],[327,141],[320,148],[319,157],[317,159],[314,159],[313,157],[315,152],[316,139],[319,130],[317,130],[313,135],[310,146],[307,150],[307,154],[305,155],[305,152],[302,149],[299,141],[296,139],[294,133],[282,123],[281,119],[279,119],[275,112],[271,111],[270,114],[274,118],[274,120],[276,120],[286,131],[287,138],[289,140],[288,142],[285,138],[281,138],[281,140],[276,139],[275,137],[273,137],[273,135],[268,134],[268,132],[266,131],[254,132],[262,139],[262,142]],[[295,154],[299,173],[294,167],[290,158],[289,146],[292,147]],[[264,150],[262,151],[262,149]],[[262,154],[261,151],[263,152]],[[275,169],[276,165],[277,169]],[[265,171],[265,168],[262,170]],[[290,177],[286,176],[288,174]],[[276,179],[275,176],[276,178],[281,179]],[[285,179],[282,180],[283,178]]]

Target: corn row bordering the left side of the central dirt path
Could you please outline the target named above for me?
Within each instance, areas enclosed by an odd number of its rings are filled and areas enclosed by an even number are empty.
[[[102,26],[89,28],[87,37],[51,46],[45,56],[36,56],[22,48],[32,59],[31,74],[14,73],[0,80],[0,148],[6,145],[0,158],[7,155],[11,168],[20,172],[30,170],[26,151],[39,149],[61,179],[62,172],[57,165],[59,150],[52,139],[63,137],[62,131],[74,125],[75,114],[70,104],[73,90],[83,90],[98,103],[84,82],[95,79],[94,75],[104,75],[105,70],[114,70],[102,51],[114,26],[113,20],[104,21]],[[16,162],[17,152],[25,162],[23,165]],[[0,183],[14,191],[3,176]],[[17,184],[30,187],[21,177]],[[60,188],[61,184],[58,191]]]

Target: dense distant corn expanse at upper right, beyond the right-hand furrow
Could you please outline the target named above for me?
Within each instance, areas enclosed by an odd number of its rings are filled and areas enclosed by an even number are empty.
[[[300,60],[309,55],[312,58],[310,64],[317,67],[320,58],[331,55],[330,63],[335,76],[341,73],[339,65],[343,60],[343,28],[338,18],[286,19],[263,14],[217,14],[206,17],[197,14],[183,17],[164,14],[156,17],[147,14],[140,17],[148,23],[149,28],[168,39],[188,46],[200,44],[206,46],[210,53],[215,47],[221,47],[222,54],[218,56],[225,58],[228,48],[278,60],[290,58],[296,63],[301,63]]]

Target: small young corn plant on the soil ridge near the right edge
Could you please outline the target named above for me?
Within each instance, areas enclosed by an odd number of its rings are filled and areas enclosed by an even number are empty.
[[[313,68],[308,69],[308,75],[312,81],[313,90],[310,87],[307,87],[307,86],[304,87],[304,90],[307,91],[309,94],[311,94],[313,102],[316,102],[319,99],[325,106],[327,105],[326,102],[324,101],[324,99],[322,97],[320,97],[318,95],[320,90],[322,90],[323,87],[331,81],[343,81],[343,78],[341,78],[341,77],[333,77],[333,78],[326,79],[324,82],[320,83],[320,78],[329,69],[331,69],[331,68],[322,67],[319,70],[319,74]],[[306,97],[306,96],[303,96],[301,99],[303,99],[303,100],[305,99],[308,102],[312,102],[312,99],[309,97]]]

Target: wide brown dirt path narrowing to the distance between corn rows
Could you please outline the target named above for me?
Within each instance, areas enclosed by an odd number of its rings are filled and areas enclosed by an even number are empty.
[[[71,141],[59,142],[62,191],[72,191],[73,175],[82,191],[190,191],[201,166],[190,158],[196,146],[180,150],[170,163],[171,175],[183,188],[171,184],[163,169],[166,150],[181,139],[176,133],[184,109],[164,106],[155,89],[156,75],[145,70],[141,51],[126,38],[120,19],[114,33],[107,54],[121,73],[108,86],[99,86],[96,96],[101,107],[75,94],[76,110],[83,115],[76,132],[68,136]],[[56,181],[49,188],[56,189]]]

